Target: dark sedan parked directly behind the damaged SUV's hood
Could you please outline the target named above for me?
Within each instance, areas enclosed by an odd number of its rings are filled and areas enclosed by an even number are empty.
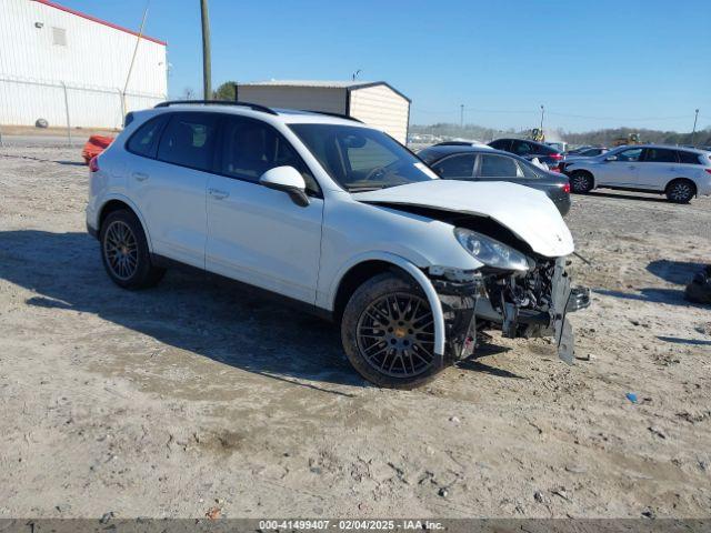
[[[509,181],[545,192],[562,215],[570,211],[570,183],[523,158],[482,147],[440,145],[418,152],[444,180]]]

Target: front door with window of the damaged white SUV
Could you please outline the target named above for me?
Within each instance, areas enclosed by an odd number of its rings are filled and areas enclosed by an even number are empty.
[[[301,172],[309,205],[259,183],[267,170],[282,165]],[[323,200],[306,163],[271,125],[224,118],[207,213],[207,270],[314,303]]]

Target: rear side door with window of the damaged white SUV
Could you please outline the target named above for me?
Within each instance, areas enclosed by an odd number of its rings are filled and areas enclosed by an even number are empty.
[[[140,164],[129,171],[129,189],[148,225],[153,252],[203,269],[206,190],[218,115],[187,111],[167,114],[168,123],[163,124],[153,158],[140,158]],[[136,139],[138,149],[141,140]]]

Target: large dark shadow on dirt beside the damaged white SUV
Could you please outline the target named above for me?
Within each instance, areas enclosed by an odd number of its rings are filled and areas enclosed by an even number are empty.
[[[126,291],[109,280],[98,242],[86,233],[0,232],[0,278],[36,292],[28,305],[92,313],[260,375],[368,385],[348,362],[334,324],[181,269],[169,270],[156,288]],[[484,366],[478,370],[489,372]]]

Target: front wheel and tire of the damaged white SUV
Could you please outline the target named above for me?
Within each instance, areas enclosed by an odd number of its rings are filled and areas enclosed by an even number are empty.
[[[353,368],[378,386],[413,389],[442,369],[427,298],[414,281],[393,273],[356,290],[343,312],[341,340]]]

